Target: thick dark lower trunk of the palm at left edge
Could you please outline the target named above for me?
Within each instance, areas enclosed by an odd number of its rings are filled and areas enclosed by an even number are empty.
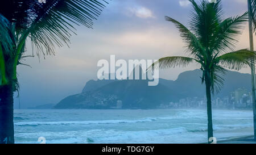
[[[0,89],[0,144],[14,143],[13,83]]]

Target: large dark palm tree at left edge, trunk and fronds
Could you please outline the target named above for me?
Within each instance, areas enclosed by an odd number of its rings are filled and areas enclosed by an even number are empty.
[[[13,93],[17,65],[31,40],[36,55],[53,55],[69,44],[76,25],[92,28],[104,0],[9,0],[0,5],[0,143],[14,143]],[[34,53],[34,52],[33,52]]]

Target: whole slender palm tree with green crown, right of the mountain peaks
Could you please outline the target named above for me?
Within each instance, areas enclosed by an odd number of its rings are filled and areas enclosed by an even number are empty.
[[[166,16],[166,20],[175,24],[185,42],[189,57],[174,56],[160,58],[152,64],[160,69],[175,66],[187,66],[192,62],[201,65],[202,83],[205,83],[207,95],[208,140],[213,137],[212,126],[212,94],[218,93],[224,82],[226,69],[240,70],[248,66],[255,53],[247,49],[233,51],[238,37],[242,33],[243,24],[247,21],[247,13],[234,18],[223,19],[221,0],[216,3],[202,1],[192,3],[190,28],[175,19]]]

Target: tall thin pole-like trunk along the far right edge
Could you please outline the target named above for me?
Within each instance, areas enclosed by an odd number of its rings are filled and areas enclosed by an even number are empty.
[[[253,30],[256,30],[256,1],[247,0],[249,12],[249,39],[250,51],[254,51],[253,45]],[[254,60],[251,62],[251,89],[253,96],[253,124],[254,124],[254,140],[256,141],[256,94],[255,94],[255,65]]]

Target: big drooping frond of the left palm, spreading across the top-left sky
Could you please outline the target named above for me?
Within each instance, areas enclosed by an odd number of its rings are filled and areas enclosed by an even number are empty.
[[[54,54],[55,45],[62,47],[69,44],[69,38],[76,30],[75,25],[92,28],[93,20],[104,7],[100,1],[88,0],[35,2],[32,6],[35,18],[29,28],[32,46],[44,55]]]

